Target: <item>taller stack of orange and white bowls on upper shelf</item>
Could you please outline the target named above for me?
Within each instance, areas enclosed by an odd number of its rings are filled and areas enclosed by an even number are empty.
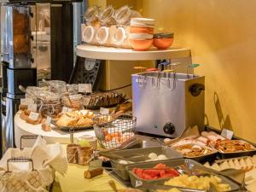
[[[153,19],[132,18],[130,26],[130,43],[135,50],[147,50],[153,43],[154,36]]]

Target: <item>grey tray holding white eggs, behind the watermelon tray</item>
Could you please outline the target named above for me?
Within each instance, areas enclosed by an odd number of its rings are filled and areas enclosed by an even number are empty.
[[[173,159],[181,159],[183,158],[183,155],[178,153],[177,151],[173,150],[172,148],[168,147],[154,147],[154,148],[136,148],[136,149],[127,149],[127,150],[121,150],[121,151],[114,151],[113,154],[119,154],[121,156],[127,156],[128,154],[144,154],[145,157],[148,157],[148,154],[155,153],[157,155],[159,154],[165,154],[166,157],[169,160]],[[145,158],[145,160],[148,160],[148,158]],[[159,162],[160,160],[150,161],[150,162]],[[129,165],[135,165],[135,164],[120,164],[118,160],[110,160],[111,166],[114,168],[113,172],[115,172],[119,177],[121,177],[125,181],[129,181],[129,173],[125,170],[126,166]]]

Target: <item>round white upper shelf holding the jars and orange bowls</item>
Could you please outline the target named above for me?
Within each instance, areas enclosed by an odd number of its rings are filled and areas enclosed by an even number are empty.
[[[132,49],[120,49],[80,44],[77,46],[77,55],[99,60],[146,61],[183,58],[189,57],[191,54],[190,49],[184,48],[170,48],[166,50],[149,49],[146,51],[136,51]]]

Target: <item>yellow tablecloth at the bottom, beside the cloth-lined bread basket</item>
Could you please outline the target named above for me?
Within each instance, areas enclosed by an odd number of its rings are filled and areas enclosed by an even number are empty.
[[[108,172],[103,172],[102,175],[94,178],[84,178],[84,171],[88,166],[79,166],[68,164],[67,174],[63,177],[56,172],[56,183],[53,186],[53,192],[86,192],[86,191],[112,191],[108,185],[108,181],[114,179],[108,175]],[[117,189],[125,189],[125,186],[115,180]],[[58,186],[59,185],[59,186]]]

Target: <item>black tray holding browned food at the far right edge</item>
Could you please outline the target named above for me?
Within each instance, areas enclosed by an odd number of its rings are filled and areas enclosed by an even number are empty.
[[[241,143],[247,143],[246,141],[239,140]],[[237,152],[223,152],[221,150],[218,150],[218,157],[219,159],[229,159],[234,157],[241,157],[241,156],[253,156],[253,154],[256,154],[256,148],[249,143],[253,150],[247,150],[247,151],[237,151]]]

